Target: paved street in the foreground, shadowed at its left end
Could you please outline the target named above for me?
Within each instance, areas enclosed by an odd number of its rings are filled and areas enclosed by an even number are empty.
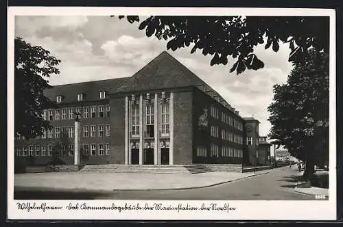
[[[25,191],[16,189],[16,199],[62,200],[314,200],[314,196],[296,193],[296,166],[270,170],[231,183],[200,189],[153,191]]]

